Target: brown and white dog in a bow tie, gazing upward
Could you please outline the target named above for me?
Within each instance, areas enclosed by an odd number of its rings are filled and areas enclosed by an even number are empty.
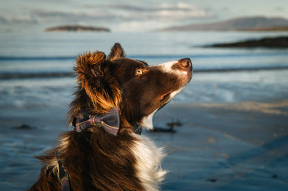
[[[107,57],[81,54],[74,70],[68,116],[75,128],[37,157],[43,168],[30,190],[159,190],[165,154],[141,130],[152,129],[154,114],[188,84],[190,59],[148,66],[116,43]]]

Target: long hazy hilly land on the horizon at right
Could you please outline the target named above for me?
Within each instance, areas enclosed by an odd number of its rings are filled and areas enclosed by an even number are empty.
[[[241,17],[228,21],[215,23],[190,24],[185,26],[172,26],[156,30],[163,31],[193,31],[193,30],[216,30],[216,31],[288,31],[288,20],[284,18],[267,17]]]

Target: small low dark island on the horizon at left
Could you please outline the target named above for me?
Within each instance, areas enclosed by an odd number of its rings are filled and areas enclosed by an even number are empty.
[[[47,28],[45,32],[110,32],[109,28],[91,27],[91,26],[57,26]]]

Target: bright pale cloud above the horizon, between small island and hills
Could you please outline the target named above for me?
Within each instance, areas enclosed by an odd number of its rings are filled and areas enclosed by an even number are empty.
[[[125,3],[109,4],[105,9],[114,15],[122,15],[118,30],[155,30],[173,26],[180,22],[190,22],[191,19],[206,19],[215,17],[210,10],[197,8],[189,3],[161,3],[154,6],[133,6]]]

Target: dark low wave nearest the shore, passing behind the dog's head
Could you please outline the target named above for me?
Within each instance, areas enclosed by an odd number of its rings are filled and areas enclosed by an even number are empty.
[[[198,68],[193,72],[253,72],[260,70],[288,70],[288,66],[262,67],[262,68]],[[0,73],[0,79],[33,79],[33,78],[62,78],[75,77],[73,72],[19,72]]]

